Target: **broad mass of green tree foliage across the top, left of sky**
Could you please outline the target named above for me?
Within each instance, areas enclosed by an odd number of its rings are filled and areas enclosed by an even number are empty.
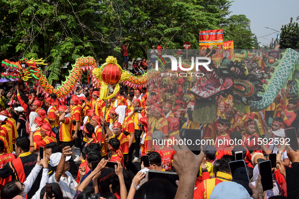
[[[182,48],[189,41],[198,48],[199,31],[223,28],[235,48],[251,48],[250,21],[227,19],[230,6],[227,0],[2,0],[0,59],[46,58],[51,83],[62,65],[81,56],[101,64],[113,55],[120,64],[123,41],[130,43],[129,56],[146,58],[159,42]]]

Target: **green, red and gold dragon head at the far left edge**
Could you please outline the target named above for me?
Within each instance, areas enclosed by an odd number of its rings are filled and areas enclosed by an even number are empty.
[[[10,81],[16,81],[20,79],[23,81],[28,81],[32,77],[34,79],[38,79],[34,75],[34,73],[39,71],[36,65],[47,65],[44,62],[45,60],[35,60],[33,58],[30,60],[22,58],[18,62],[11,62],[6,59],[2,61],[2,67],[4,67],[6,71],[1,74],[1,77]]]

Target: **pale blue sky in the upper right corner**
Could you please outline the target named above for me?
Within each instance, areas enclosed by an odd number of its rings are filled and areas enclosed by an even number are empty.
[[[230,15],[246,15],[251,21],[251,31],[257,37],[270,34],[258,38],[261,45],[269,44],[269,40],[272,37],[276,38],[276,33],[273,33],[275,32],[274,30],[280,31],[281,25],[288,24],[291,17],[293,21],[296,21],[296,18],[299,16],[298,8],[298,0],[235,0],[230,7],[230,11],[232,12]],[[299,23],[299,21],[297,22]]]

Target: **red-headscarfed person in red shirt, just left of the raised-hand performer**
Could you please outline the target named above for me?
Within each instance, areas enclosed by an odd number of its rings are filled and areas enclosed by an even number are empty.
[[[102,146],[102,157],[105,157],[107,155],[107,147],[106,147],[106,140],[105,140],[106,137],[105,137],[105,131],[103,131],[102,129],[101,121],[102,121],[101,117],[95,115],[92,117],[90,124],[93,125],[93,127],[95,128],[97,141],[98,143],[101,143]]]

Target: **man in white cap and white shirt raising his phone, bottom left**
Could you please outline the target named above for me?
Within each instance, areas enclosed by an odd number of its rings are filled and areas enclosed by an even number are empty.
[[[49,178],[49,183],[55,182],[59,184],[63,197],[73,198],[76,193],[78,183],[69,172],[70,164],[68,161],[72,155],[70,151],[70,146],[66,146],[62,149],[62,153],[55,153],[50,156],[50,165],[55,172]]]

